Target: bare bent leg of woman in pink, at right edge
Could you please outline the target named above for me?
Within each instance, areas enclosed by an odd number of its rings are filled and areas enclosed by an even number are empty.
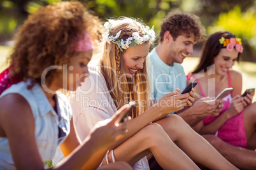
[[[245,134],[248,149],[256,148],[256,103],[252,103],[243,111],[243,121],[245,122]]]

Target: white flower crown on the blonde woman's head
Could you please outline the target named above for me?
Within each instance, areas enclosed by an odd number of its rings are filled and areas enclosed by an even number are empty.
[[[143,31],[145,34],[143,36],[139,36],[138,32],[132,33],[132,37],[127,38],[126,40],[124,37],[120,36],[122,30],[117,32],[117,35],[114,37],[110,34],[110,29],[112,27],[112,23],[115,22],[114,20],[108,20],[108,22],[104,23],[104,27],[106,28],[106,32],[103,34],[103,42],[110,44],[113,42],[118,45],[120,50],[123,52],[123,49],[127,49],[129,47],[134,46],[136,48],[136,44],[143,44],[146,41],[154,41],[155,40],[155,32],[150,27],[146,26],[143,27]]]

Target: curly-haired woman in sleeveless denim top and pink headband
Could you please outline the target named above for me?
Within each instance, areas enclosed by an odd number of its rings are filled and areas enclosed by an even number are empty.
[[[62,2],[41,8],[20,27],[11,66],[0,80],[0,169],[44,169],[59,145],[68,157],[50,169],[96,169],[126,133],[126,121],[116,124],[128,110],[123,107],[81,142],[69,101],[57,93],[74,90],[88,77],[97,23],[81,3]],[[131,166],[116,162],[99,169]]]

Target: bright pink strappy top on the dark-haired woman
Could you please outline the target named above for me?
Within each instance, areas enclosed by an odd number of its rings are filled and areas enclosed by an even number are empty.
[[[232,87],[231,77],[229,72],[227,72],[227,75],[229,77],[229,88],[231,88]],[[198,79],[191,73],[187,75],[187,79],[190,79],[190,77],[193,77],[197,81],[197,84],[199,84],[199,87],[201,89],[201,95],[205,97],[203,88],[200,82],[198,81]],[[224,108],[220,110],[220,114],[218,116],[223,114],[229,108],[232,101],[231,93],[225,96],[223,100],[225,100]],[[215,116],[215,117],[208,116],[204,118],[203,119],[204,125],[215,121],[215,119],[217,119],[218,116]],[[215,135],[218,136],[218,138],[224,140],[225,142],[231,145],[247,148],[247,141],[245,136],[245,124],[243,122],[243,111],[240,114],[229,119],[227,122],[225,122],[225,124],[220,129],[218,129]]]

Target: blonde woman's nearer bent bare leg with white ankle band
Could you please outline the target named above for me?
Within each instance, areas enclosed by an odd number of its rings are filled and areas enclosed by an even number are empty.
[[[164,169],[199,169],[159,124],[149,124],[114,150],[115,160],[130,165],[150,153]]]

